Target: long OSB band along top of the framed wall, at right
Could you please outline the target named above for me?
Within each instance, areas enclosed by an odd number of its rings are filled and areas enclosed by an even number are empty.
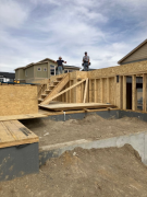
[[[103,69],[97,69],[94,71],[89,71],[87,77],[89,79],[102,78],[102,77],[113,77],[117,74],[132,74],[132,73],[147,73],[147,61],[133,62],[128,65],[122,65],[117,67],[109,67]]]

